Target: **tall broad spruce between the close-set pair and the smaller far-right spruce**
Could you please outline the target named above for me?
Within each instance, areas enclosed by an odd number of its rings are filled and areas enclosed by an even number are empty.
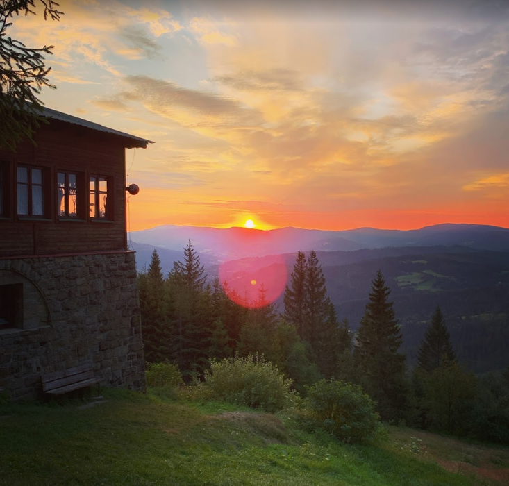
[[[405,356],[398,353],[403,339],[389,294],[378,270],[354,349],[362,385],[378,403],[378,412],[385,420],[401,417],[406,401]]]

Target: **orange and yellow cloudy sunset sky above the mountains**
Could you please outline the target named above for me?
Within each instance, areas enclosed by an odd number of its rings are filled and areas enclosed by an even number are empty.
[[[507,3],[467,3],[60,0],[8,35],[55,45],[46,106],[156,142],[131,230],[509,227]]]

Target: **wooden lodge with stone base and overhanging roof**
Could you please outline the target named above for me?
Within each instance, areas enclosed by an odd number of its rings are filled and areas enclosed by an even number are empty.
[[[35,144],[0,150],[0,390],[92,363],[144,389],[125,149],[150,140],[44,108]]]

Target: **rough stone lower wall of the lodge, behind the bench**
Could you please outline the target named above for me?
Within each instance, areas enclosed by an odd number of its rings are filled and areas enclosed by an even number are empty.
[[[133,252],[0,260],[0,286],[19,283],[22,324],[0,329],[0,389],[34,398],[42,374],[92,362],[103,385],[144,391]]]

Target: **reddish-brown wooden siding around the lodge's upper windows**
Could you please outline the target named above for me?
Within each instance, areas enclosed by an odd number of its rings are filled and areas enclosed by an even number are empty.
[[[118,138],[53,120],[37,131],[35,142],[37,146],[19,144],[16,153],[0,151],[4,174],[9,174],[3,185],[6,211],[0,217],[0,257],[126,250],[125,149]],[[17,165],[44,169],[44,218],[17,216]],[[79,221],[57,215],[59,170],[81,174]],[[89,216],[88,180],[92,174],[108,178],[110,221]]]

